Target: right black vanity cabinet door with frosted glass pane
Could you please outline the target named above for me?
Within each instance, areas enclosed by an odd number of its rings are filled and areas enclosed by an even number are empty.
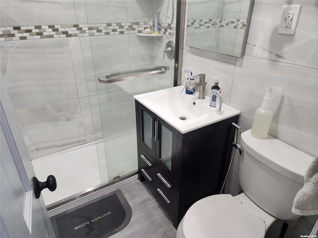
[[[156,161],[162,170],[174,181],[176,168],[177,130],[164,120],[155,122]]]

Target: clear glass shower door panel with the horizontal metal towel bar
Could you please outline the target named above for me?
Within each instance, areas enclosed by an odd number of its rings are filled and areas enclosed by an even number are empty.
[[[150,28],[152,19],[155,22],[158,6],[161,11],[166,8],[162,11],[165,14],[160,15],[162,24],[170,23],[171,2],[159,1],[160,7],[157,0],[86,0],[83,12],[80,3],[75,1],[77,15],[82,16],[78,18],[79,27],[89,31],[89,36],[80,36],[80,41],[85,52],[87,85],[92,85],[89,94],[96,100],[96,111],[99,110],[99,114],[93,114],[93,121],[103,141],[103,147],[97,149],[99,155],[105,154],[98,158],[104,184],[138,170],[133,96],[173,86],[174,60],[163,57],[163,52],[168,41],[175,41],[175,24],[167,29],[160,26],[158,35],[143,34],[143,30]],[[155,66],[165,66],[169,70],[125,81],[98,82],[98,78],[105,78],[106,74]]]

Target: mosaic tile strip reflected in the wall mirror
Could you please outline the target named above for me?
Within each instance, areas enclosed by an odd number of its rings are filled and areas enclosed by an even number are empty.
[[[226,27],[226,28],[237,28],[245,29],[246,20],[244,19],[196,19],[188,20],[187,29],[205,29],[205,28],[217,28],[217,27]]]

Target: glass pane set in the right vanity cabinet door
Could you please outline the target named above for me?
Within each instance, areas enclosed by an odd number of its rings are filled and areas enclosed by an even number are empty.
[[[171,170],[172,132],[161,124],[160,159]]]

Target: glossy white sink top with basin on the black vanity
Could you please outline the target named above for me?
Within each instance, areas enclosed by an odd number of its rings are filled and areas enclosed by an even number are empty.
[[[216,115],[215,108],[210,107],[209,97],[201,100],[198,92],[194,95],[179,93],[180,87],[140,94],[134,98],[183,134],[240,114],[238,110],[222,104],[221,115]]]

